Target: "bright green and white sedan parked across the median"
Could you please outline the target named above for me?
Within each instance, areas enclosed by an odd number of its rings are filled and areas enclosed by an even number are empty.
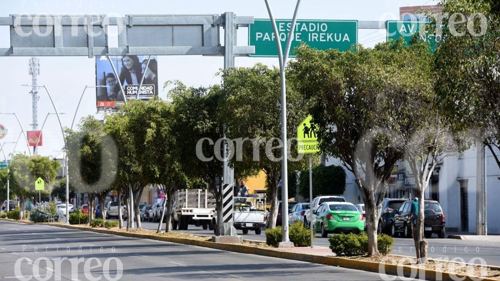
[[[333,232],[361,232],[364,221],[354,204],[349,202],[324,202],[314,212],[314,229],[321,237]]]

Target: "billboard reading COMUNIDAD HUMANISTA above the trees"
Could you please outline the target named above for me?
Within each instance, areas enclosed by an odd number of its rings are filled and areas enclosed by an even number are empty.
[[[139,99],[148,100],[154,95],[158,95],[157,56],[151,56],[146,69],[148,57],[148,55],[111,55],[111,63],[118,73],[115,75],[107,56],[96,56],[95,84],[106,86],[96,88],[97,107],[119,107],[125,103],[120,83],[126,99],[136,98],[142,76],[144,78]]]

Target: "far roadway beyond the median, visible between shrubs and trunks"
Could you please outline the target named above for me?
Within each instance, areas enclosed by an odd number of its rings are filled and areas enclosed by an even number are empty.
[[[157,229],[157,222],[141,221],[142,228],[144,229]],[[165,223],[162,225],[162,229],[165,228]],[[203,230],[200,227],[194,225],[189,225],[188,230],[176,230],[186,233],[201,234],[201,235],[212,235],[213,231]],[[241,233],[240,230],[237,231],[239,235],[242,235],[244,239],[252,239],[265,241],[265,229],[262,229],[260,235],[256,235],[255,232],[250,231],[248,234]],[[330,234],[331,235],[331,234]],[[413,240],[410,238],[394,238],[394,245],[392,246],[392,253],[399,255],[415,255],[415,247]],[[458,239],[448,239],[448,238],[438,238],[436,234],[432,234],[432,237],[427,239],[429,243],[428,256],[437,259],[448,259],[455,261],[467,262],[467,263],[481,263],[482,258],[488,265],[500,266],[500,245],[493,244],[491,242],[482,241],[468,241],[468,240],[458,240]],[[322,238],[319,234],[316,235],[314,239],[314,245],[328,247],[330,244],[328,238]]]

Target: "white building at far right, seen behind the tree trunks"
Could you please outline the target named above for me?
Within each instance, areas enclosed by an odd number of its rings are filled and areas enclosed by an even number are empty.
[[[496,151],[500,156],[500,151]],[[448,156],[436,166],[425,198],[438,200],[446,217],[448,231],[476,232],[476,150],[471,148]],[[342,165],[338,159],[327,158],[326,165]],[[393,178],[386,197],[413,198],[411,171],[404,162],[394,166]],[[343,196],[354,204],[362,203],[354,174],[347,171]],[[500,234],[500,168],[486,148],[486,204],[488,233]]]

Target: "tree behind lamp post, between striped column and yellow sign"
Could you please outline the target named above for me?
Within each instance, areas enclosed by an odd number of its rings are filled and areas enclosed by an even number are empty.
[[[279,70],[263,64],[224,70],[221,90],[224,96],[221,116],[226,136],[235,144],[230,163],[239,173],[263,170],[271,190],[269,228],[276,224],[278,175],[281,173],[281,117]],[[297,155],[293,128],[307,116],[305,102],[292,87],[287,88],[287,138],[289,170],[300,170],[307,160]],[[238,147],[241,149],[238,151]],[[293,160],[295,159],[295,160]],[[300,160],[298,160],[300,159]]]

